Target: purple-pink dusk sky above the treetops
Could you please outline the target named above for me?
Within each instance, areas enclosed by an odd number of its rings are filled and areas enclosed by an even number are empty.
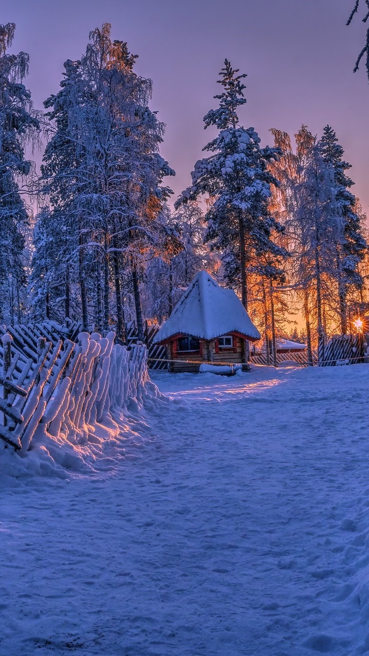
[[[12,51],[30,55],[27,86],[42,108],[58,91],[63,62],[85,51],[88,32],[103,22],[138,54],[136,71],[153,79],[151,108],[166,123],[163,156],[176,169],[177,195],[210,140],[203,116],[216,106],[218,72],[227,57],[247,73],[241,123],[262,145],[269,128],[290,134],[305,123],[321,134],[330,123],[369,213],[369,85],[353,66],[365,26],[345,22],[354,0],[3,0],[1,22],[16,23]],[[362,0],[362,11],[364,0]],[[37,156],[39,159],[39,156]]]

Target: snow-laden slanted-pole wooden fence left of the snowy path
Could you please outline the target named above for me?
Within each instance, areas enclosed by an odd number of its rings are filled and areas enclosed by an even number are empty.
[[[79,333],[53,322],[0,328],[0,438],[27,450],[39,424],[49,436],[87,438],[114,411],[142,407],[157,396],[147,349],[114,344],[115,334]],[[69,337],[67,337],[69,335]],[[91,428],[92,426],[92,428]]]

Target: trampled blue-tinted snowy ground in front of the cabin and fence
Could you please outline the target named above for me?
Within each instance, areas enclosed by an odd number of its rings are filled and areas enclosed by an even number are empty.
[[[369,653],[369,365],[153,378],[106,467],[3,461],[0,654]]]

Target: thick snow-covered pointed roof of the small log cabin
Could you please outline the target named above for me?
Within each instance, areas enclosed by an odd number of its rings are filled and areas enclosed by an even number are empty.
[[[210,340],[232,332],[250,340],[260,339],[258,329],[235,292],[220,287],[206,271],[200,271],[155,335],[154,342],[165,342],[178,334]]]

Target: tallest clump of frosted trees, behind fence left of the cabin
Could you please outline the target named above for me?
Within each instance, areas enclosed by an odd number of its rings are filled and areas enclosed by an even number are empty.
[[[127,272],[142,338],[143,262],[171,236],[163,220],[171,192],[161,182],[174,171],[159,155],[164,125],[149,110],[151,81],[133,71],[135,60],[104,24],[81,60],[66,62],[60,91],[45,102],[55,131],[43,192],[73,234],[65,262],[79,280],[83,325],[108,329],[112,318],[121,339]]]

